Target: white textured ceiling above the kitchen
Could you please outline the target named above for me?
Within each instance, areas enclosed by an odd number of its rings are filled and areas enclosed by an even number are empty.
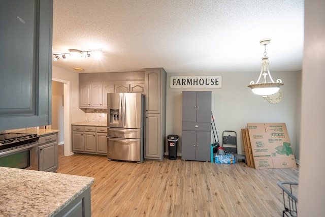
[[[53,53],[102,49],[71,71],[259,72],[265,38],[271,71],[301,70],[304,0],[54,0]]]

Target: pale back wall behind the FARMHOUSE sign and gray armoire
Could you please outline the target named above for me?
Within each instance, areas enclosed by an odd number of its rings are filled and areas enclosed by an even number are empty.
[[[256,59],[259,61],[259,59]],[[272,65],[270,63],[270,69]],[[188,76],[189,74],[167,72],[166,135],[180,136],[178,153],[181,152],[182,135],[182,91],[212,91],[212,112],[221,144],[222,132],[236,131],[238,152],[243,153],[241,129],[247,128],[248,122],[285,122],[294,153],[299,153],[299,117],[301,97],[301,71],[272,72],[273,79],[282,79],[284,86],[283,100],[279,104],[270,104],[261,96],[254,95],[247,87],[249,82],[257,80],[260,69],[256,72],[231,72],[191,75],[221,75],[222,88],[170,88],[170,76]],[[212,134],[212,133],[211,133]],[[213,134],[212,134],[213,136]],[[211,143],[213,143],[213,137]],[[168,146],[166,145],[166,152]],[[299,158],[297,154],[296,159]]]

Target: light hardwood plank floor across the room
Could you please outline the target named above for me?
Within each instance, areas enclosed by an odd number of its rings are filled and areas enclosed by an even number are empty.
[[[92,216],[282,216],[278,181],[298,182],[299,169],[256,170],[234,165],[168,160],[108,161],[63,156],[57,173],[94,177]],[[73,183],[71,183],[73,185]]]

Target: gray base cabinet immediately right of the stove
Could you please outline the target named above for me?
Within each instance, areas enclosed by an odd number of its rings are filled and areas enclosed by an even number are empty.
[[[39,171],[55,172],[58,168],[57,132],[39,139]]]

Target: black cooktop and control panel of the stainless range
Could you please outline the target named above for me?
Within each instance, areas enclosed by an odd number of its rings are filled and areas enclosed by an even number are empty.
[[[37,134],[6,133],[0,134],[0,150],[38,141]]]

